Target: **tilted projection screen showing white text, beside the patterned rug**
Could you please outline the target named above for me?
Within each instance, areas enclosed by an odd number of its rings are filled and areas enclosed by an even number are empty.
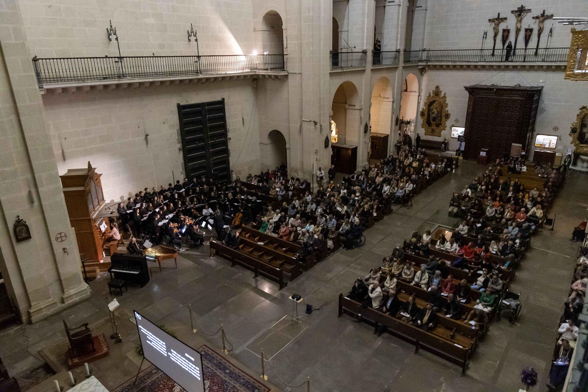
[[[204,392],[201,354],[134,313],[145,359],[187,392]]]

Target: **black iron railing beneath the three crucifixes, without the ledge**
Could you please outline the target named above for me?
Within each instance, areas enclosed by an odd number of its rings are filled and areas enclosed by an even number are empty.
[[[567,62],[570,48],[447,49],[405,51],[405,62]]]

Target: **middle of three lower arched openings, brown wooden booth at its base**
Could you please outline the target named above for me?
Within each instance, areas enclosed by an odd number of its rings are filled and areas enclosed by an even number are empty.
[[[372,91],[372,107],[369,112],[370,159],[388,156],[388,139],[392,121],[392,84],[386,76],[377,79]]]

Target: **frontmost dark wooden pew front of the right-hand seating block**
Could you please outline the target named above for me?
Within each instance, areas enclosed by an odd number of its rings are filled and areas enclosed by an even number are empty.
[[[403,323],[399,319],[388,316],[375,309],[364,308],[359,302],[350,300],[347,297],[343,297],[343,294],[339,294],[338,317],[342,316],[344,311],[363,320],[375,323],[376,329],[381,324],[390,333],[415,344],[415,354],[423,347],[447,360],[459,364],[462,367],[462,376],[465,374],[473,342],[470,343],[470,347],[466,347],[463,344],[455,343],[453,340],[447,340],[432,332],[422,330],[412,324]]]

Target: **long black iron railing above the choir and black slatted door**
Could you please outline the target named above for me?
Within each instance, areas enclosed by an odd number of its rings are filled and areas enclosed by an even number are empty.
[[[287,55],[124,56],[32,59],[39,88],[46,83],[286,70]]]

